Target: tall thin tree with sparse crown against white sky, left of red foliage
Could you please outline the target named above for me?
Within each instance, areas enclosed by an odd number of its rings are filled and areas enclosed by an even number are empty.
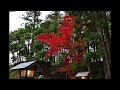
[[[29,41],[28,44],[28,48],[30,45],[30,53],[29,56],[30,58],[33,57],[34,52],[33,52],[33,43],[35,40],[35,31],[36,29],[39,27],[40,23],[41,23],[41,19],[39,18],[41,15],[40,11],[26,11],[26,16],[24,15],[22,18],[27,21],[27,23],[25,23],[25,28],[29,29],[29,34],[31,35],[31,42]]]

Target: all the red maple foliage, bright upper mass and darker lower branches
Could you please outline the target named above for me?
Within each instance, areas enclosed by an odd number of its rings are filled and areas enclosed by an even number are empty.
[[[71,49],[71,47],[79,46],[79,42],[71,41],[71,35],[74,34],[74,31],[73,31],[74,30],[73,26],[75,25],[74,19],[75,19],[74,16],[65,16],[63,18],[62,25],[60,26],[58,30],[60,34],[45,33],[45,34],[37,35],[39,42],[44,42],[50,46],[50,49],[45,54],[45,56],[52,57],[58,54],[58,51],[61,48]],[[66,72],[68,77],[72,78],[75,76],[75,73],[71,69],[71,63],[73,61],[80,63],[83,57],[83,54],[79,53],[79,54],[74,54],[74,56],[73,55],[69,55],[69,56],[70,56],[69,59],[67,58],[63,60],[64,66],[58,67],[57,72]]]

